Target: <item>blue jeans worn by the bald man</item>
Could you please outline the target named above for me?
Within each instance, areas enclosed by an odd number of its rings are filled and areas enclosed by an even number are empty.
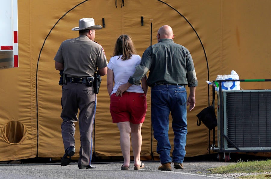
[[[158,85],[151,88],[151,124],[162,164],[171,161],[183,163],[187,134],[186,100],[184,86]],[[170,112],[174,132],[173,158],[170,157],[171,145],[168,138]]]

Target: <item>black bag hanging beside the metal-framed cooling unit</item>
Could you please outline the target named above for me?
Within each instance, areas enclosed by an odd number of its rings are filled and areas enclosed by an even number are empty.
[[[201,121],[204,125],[212,130],[217,126],[216,113],[213,106],[205,107],[200,113],[197,114],[198,121],[197,125],[201,125]]]

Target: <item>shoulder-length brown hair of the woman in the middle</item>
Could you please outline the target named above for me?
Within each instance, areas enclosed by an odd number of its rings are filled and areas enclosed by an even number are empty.
[[[136,54],[136,49],[131,37],[126,34],[120,35],[116,41],[113,56],[122,55],[122,60],[128,60],[132,57],[132,54]]]

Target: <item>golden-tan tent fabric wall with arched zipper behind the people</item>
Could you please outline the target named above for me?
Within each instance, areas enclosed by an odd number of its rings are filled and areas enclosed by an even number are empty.
[[[0,152],[4,154],[0,161],[63,156],[60,76],[53,58],[62,41],[79,36],[71,29],[78,26],[80,18],[94,18],[95,24],[102,26],[104,19],[104,28],[96,31],[95,41],[103,46],[108,61],[120,34],[130,35],[137,53],[142,56],[148,46],[157,43],[159,27],[167,24],[173,28],[173,40],[192,54],[198,78],[196,107],[187,115],[188,157],[209,153],[209,131],[203,125],[196,125],[196,114],[211,101],[211,88],[206,80],[215,80],[217,75],[229,74],[231,70],[240,79],[271,76],[269,0],[124,0],[124,6],[122,3],[120,0],[18,1],[20,67],[0,70]],[[268,89],[270,83],[241,83],[240,86]],[[151,131],[150,100],[149,89],[148,111],[142,126],[142,156],[151,152],[158,156]],[[95,154],[120,156],[120,136],[109,112],[106,76],[102,77],[97,101]],[[16,121],[16,125],[11,125],[11,121]],[[18,126],[20,130],[15,130]],[[7,142],[5,135],[25,138],[14,144]],[[75,157],[78,157],[78,123],[75,135]],[[173,141],[171,128],[169,136]]]

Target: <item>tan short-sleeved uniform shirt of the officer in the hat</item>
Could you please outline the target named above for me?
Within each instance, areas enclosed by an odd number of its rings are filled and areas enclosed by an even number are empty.
[[[54,60],[64,64],[67,77],[94,76],[97,67],[104,68],[108,63],[102,46],[86,35],[62,42]]]

